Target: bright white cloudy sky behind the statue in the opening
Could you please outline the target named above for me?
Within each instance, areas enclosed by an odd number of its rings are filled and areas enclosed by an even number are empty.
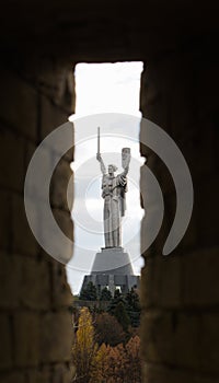
[[[101,126],[104,131],[103,118],[95,117],[100,125],[95,125],[88,116],[102,113],[123,113],[136,116],[132,124],[132,139],[117,138],[112,124],[112,137],[101,138],[101,152],[106,165],[115,163],[120,170],[120,150],[123,147],[131,149],[130,171],[128,174],[127,210],[123,222],[123,246],[128,251],[134,270],[140,274],[142,258],[140,257],[140,220],[142,209],[139,202],[139,169],[142,159],[139,154],[139,90],[142,62],[116,63],[79,63],[76,67],[76,115],[70,119],[74,121],[76,140],[80,140],[80,121],[89,125],[88,135],[93,138],[79,142],[76,147],[74,162],[74,207],[72,218],[74,221],[74,254],[67,266],[67,276],[72,292],[79,293],[84,275],[90,274],[92,263],[102,246],[103,237],[103,200],[101,198],[101,172],[95,159],[96,128]],[[77,123],[77,120],[79,123]],[[127,128],[127,126],[126,126]],[[115,132],[115,134],[114,134]],[[104,135],[103,135],[104,136]],[[113,149],[112,149],[113,148]],[[112,156],[112,160],[111,160]],[[85,192],[84,192],[85,190]],[[91,221],[91,223],[89,223]],[[91,227],[89,228],[89,224]],[[93,230],[96,228],[96,230]],[[134,240],[130,241],[130,237]]]

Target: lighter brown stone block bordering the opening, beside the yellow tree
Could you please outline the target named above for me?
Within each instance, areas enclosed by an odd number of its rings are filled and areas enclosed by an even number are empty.
[[[57,312],[43,315],[41,328],[41,360],[69,362],[73,341],[70,313]]]

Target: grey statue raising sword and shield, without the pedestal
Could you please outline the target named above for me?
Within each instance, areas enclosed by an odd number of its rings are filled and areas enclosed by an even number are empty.
[[[97,135],[97,154],[96,160],[101,164],[102,178],[102,197],[104,198],[104,239],[105,247],[120,247],[120,221],[125,216],[126,199],[125,194],[127,192],[127,178],[126,175],[129,170],[130,162],[130,149],[124,148],[122,150],[122,166],[124,172],[114,175],[117,167],[113,164],[108,165],[108,173],[104,165],[103,159],[100,153],[100,128]]]

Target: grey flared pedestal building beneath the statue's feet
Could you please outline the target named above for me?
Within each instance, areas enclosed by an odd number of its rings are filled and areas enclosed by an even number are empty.
[[[130,257],[123,247],[103,247],[96,253],[91,274],[83,279],[82,289],[91,281],[99,294],[106,287],[114,295],[116,289],[125,294],[131,288],[139,288],[140,277],[134,275]]]

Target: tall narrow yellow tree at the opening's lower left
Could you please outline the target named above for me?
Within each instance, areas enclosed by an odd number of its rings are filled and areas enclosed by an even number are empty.
[[[94,341],[92,316],[88,307],[82,307],[72,350],[73,364],[76,365],[74,382],[89,383],[91,367],[96,350],[97,345]]]

